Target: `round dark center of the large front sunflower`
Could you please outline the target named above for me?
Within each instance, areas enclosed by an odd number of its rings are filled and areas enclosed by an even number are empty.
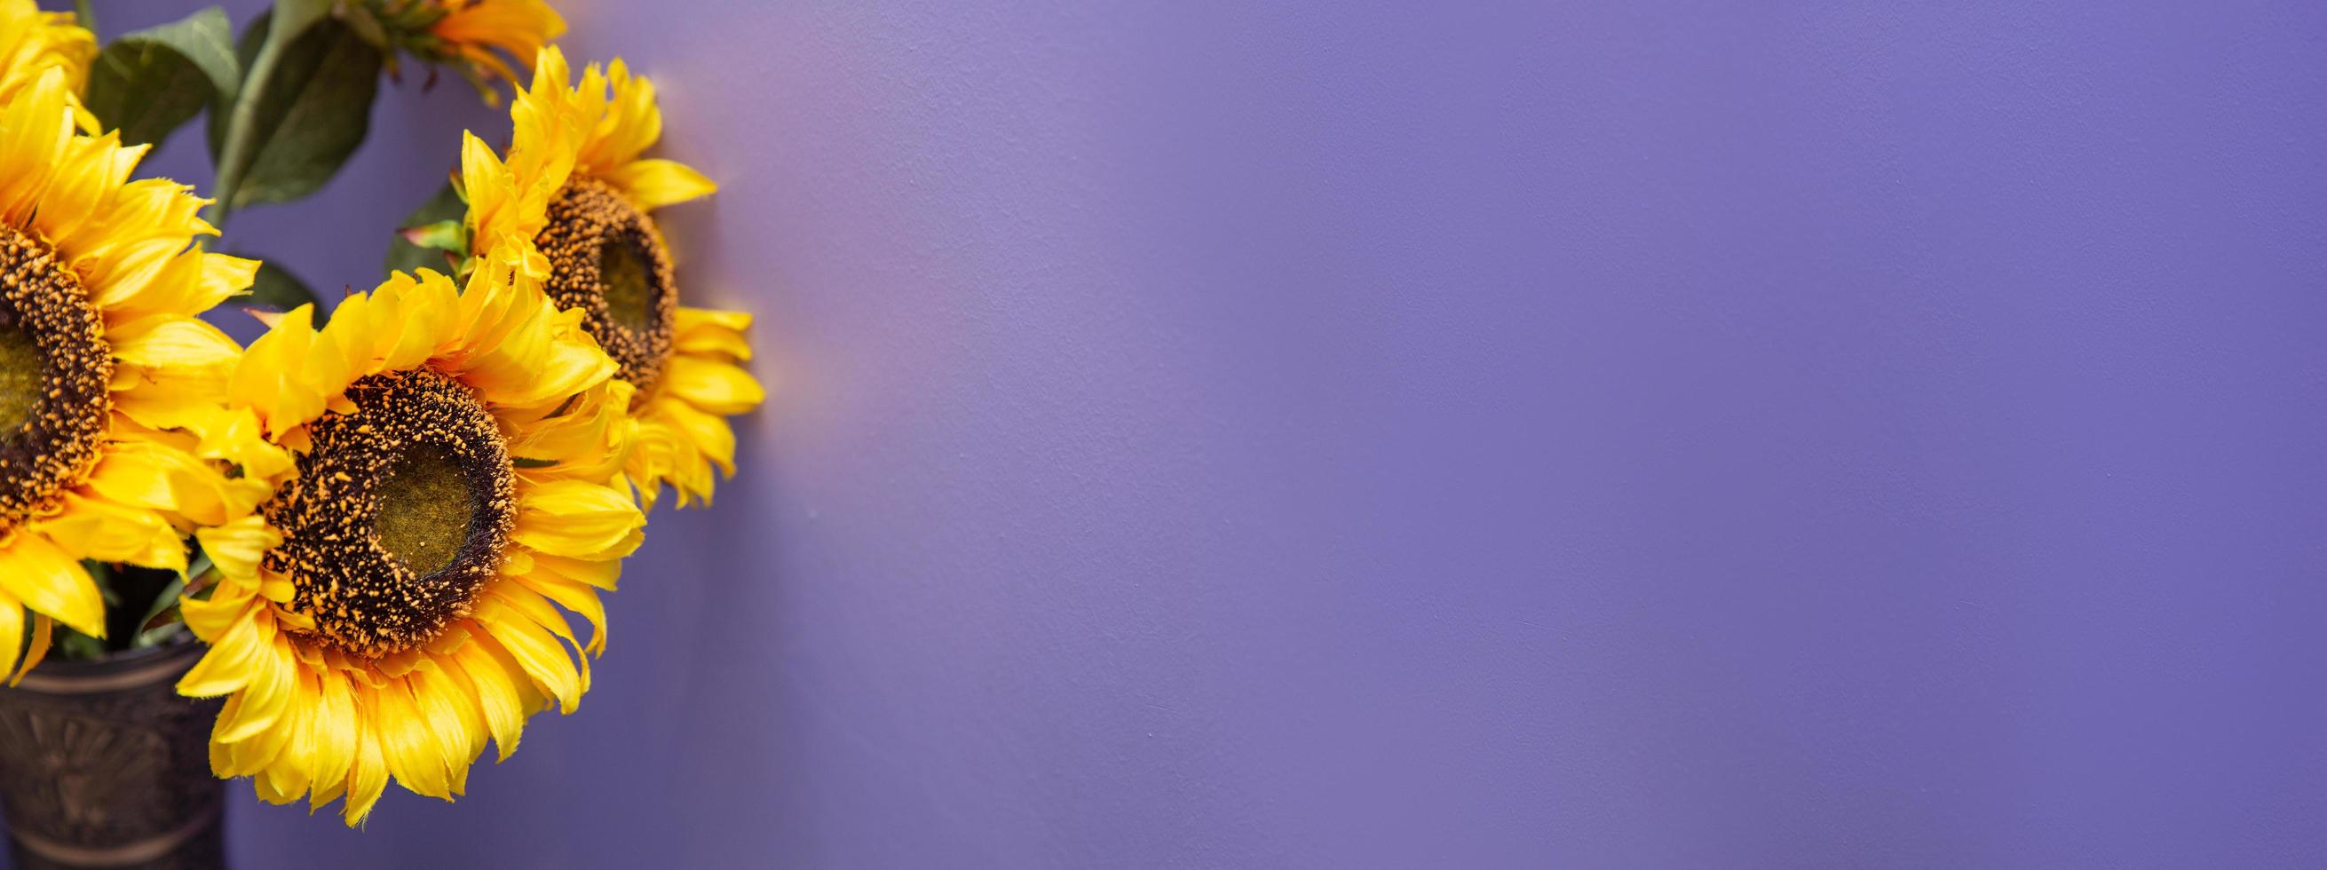
[[[458,381],[386,372],[347,388],[347,414],[307,428],[298,482],[265,505],[291,609],[347,654],[426,644],[468,616],[500,568],[517,491],[500,428]]]

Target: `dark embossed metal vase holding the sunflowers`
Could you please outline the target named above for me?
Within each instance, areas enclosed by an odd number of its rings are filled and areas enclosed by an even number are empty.
[[[16,868],[223,868],[219,700],[175,691],[200,644],[47,661],[0,689],[0,816]]]

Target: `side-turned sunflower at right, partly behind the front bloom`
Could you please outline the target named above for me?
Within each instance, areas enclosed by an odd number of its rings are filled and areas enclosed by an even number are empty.
[[[614,60],[568,84],[565,56],[545,49],[533,84],[510,107],[510,158],[468,135],[461,193],[470,249],[531,244],[545,288],[621,363],[638,386],[631,400],[635,449],[624,477],[645,505],[663,484],[679,505],[710,500],[712,468],[735,472],[726,416],[763,400],[742,370],[752,358],[752,316],[677,302],[670,247],[649,212],[703,198],[717,186],[700,172],[640,158],[663,135],[654,84]]]

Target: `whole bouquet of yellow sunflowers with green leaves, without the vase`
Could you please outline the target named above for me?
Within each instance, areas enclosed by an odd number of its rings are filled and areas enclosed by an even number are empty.
[[[489,742],[575,712],[661,491],[733,475],[749,316],[679,305],[652,216],[714,184],[642,156],[654,86],[577,77],[542,0],[93,28],[86,0],[0,0],[0,677],[202,644],[175,689],[223,698],[216,777],[351,826],[391,779],[451,800]],[[321,188],[412,65],[510,128],[447,142],[386,274],[326,305],[223,254],[235,212]],[[137,177],[195,116],[209,195]],[[242,347],[221,307],[265,333]]]

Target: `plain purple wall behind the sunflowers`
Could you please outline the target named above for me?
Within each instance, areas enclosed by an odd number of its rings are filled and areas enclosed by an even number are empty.
[[[247,865],[2327,861],[2327,7],[970,7],[570,5],[747,472]],[[368,284],[491,119],[235,230]]]

